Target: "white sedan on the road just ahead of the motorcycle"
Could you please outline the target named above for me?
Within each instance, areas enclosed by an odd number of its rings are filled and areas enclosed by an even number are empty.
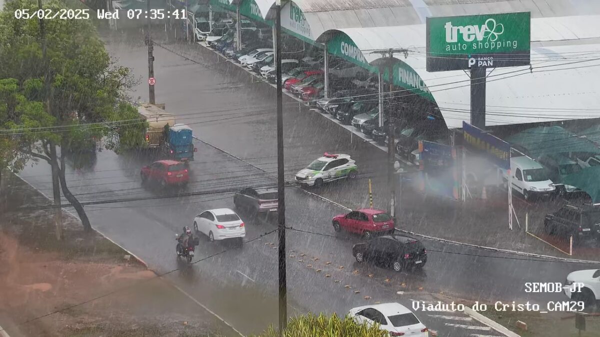
[[[196,215],[194,231],[208,236],[208,240],[235,239],[244,242],[246,228],[239,216],[229,208],[209,209]]]

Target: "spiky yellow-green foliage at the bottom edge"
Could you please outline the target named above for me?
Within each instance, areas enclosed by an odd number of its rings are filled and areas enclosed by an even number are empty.
[[[278,337],[279,332],[269,326],[255,337]],[[283,337],[387,337],[388,332],[379,329],[379,325],[358,324],[352,318],[340,318],[333,314],[326,316],[308,313],[290,318]]]

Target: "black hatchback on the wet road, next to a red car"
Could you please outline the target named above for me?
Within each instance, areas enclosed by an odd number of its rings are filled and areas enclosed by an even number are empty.
[[[422,268],[427,263],[427,250],[421,241],[408,236],[386,235],[352,246],[356,261],[373,261],[395,271],[408,267]]]

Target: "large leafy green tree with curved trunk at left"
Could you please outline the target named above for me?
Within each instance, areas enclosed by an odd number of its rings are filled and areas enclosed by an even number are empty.
[[[67,186],[65,155],[90,139],[106,137],[107,148],[115,150],[143,142],[146,125],[127,95],[136,81],[110,59],[90,20],[40,23],[14,16],[17,9],[34,13],[37,8],[37,2],[14,0],[0,13],[0,79],[10,89],[4,95],[13,100],[5,104],[0,124],[14,130],[0,133],[0,146],[7,143],[8,152],[19,153],[0,164],[23,158],[49,163],[55,204],[60,185],[90,231],[85,210]],[[43,8],[58,13],[65,7],[51,0]]]

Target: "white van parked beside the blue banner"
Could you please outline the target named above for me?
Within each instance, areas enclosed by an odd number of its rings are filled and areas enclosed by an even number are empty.
[[[525,200],[532,197],[550,197],[556,192],[556,187],[547,171],[536,161],[528,157],[511,158],[512,189],[523,194]],[[508,183],[508,175],[503,170],[503,178]]]

